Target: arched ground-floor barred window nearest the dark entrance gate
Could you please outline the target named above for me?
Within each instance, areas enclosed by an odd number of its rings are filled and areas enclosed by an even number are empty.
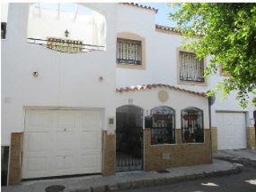
[[[175,143],[175,110],[158,106],[150,110],[152,118],[151,145]]]

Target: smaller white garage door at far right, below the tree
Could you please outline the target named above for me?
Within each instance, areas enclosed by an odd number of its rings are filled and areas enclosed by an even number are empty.
[[[245,113],[216,113],[218,150],[246,148]]]

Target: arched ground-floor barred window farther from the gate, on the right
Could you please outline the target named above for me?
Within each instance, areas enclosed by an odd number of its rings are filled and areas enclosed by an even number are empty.
[[[182,142],[204,142],[202,110],[194,107],[182,110]]]

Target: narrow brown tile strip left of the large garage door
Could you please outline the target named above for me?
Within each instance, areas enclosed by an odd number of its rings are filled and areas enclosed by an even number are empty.
[[[18,184],[22,179],[22,136],[23,133],[10,136],[9,185]]]

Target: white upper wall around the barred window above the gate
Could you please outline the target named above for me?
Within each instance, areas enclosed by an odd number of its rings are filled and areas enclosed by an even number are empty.
[[[117,86],[137,86],[151,82],[152,67],[154,66],[154,14],[134,6],[119,4],[117,10],[117,34],[129,32],[146,38],[146,70],[130,70],[117,68]],[[149,41],[150,39],[150,41]]]

